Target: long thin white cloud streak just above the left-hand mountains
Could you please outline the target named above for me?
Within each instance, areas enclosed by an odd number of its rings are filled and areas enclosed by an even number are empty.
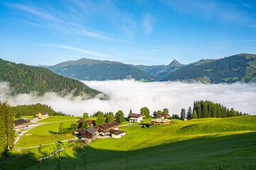
[[[77,52],[82,52],[86,55],[93,55],[93,56],[97,56],[97,57],[108,57],[108,55],[104,55],[100,52],[92,52],[89,50],[83,50],[77,47],[70,47],[68,45],[51,45],[51,44],[39,44],[39,45],[45,45],[45,46],[50,46],[50,47],[58,47],[58,48],[63,48],[66,50],[73,50],[73,51],[77,51]]]

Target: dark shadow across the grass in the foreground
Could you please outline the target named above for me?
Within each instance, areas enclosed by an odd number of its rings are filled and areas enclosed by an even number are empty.
[[[75,169],[84,169],[85,165],[86,169],[256,169],[255,138],[256,132],[206,135],[178,142],[174,139],[165,145],[144,149],[134,147],[129,151],[95,149],[87,145],[80,152],[66,150],[63,164],[68,169],[74,165]],[[130,145],[129,142],[126,145]],[[78,159],[70,156],[75,154]],[[38,158],[29,153],[22,155],[16,162],[6,164],[6,169],[37,169]],[[48,159],[41,164],[41,169],[55,169],[56,166],[56,159]]]

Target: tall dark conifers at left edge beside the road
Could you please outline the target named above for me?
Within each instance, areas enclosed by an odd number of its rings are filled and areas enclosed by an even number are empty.
[[[14,113],[7,102],[0,101],[0,155],[14,146]]]

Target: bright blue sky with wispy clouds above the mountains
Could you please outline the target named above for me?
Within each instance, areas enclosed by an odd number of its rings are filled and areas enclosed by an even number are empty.
[[[256,54],[255,1],[0,1],[0,58],[183,64]]]

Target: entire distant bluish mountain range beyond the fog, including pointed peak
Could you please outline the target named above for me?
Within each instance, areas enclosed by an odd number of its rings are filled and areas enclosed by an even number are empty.
[[[174,60],[169,65],[147,66],[81,58],[44,67],[64,77],[80,80],[104,81],[132,77],[140,81],[201,81],[218,84],[256,81],[255,59],[256,55],[243,53],[191,64]]]

